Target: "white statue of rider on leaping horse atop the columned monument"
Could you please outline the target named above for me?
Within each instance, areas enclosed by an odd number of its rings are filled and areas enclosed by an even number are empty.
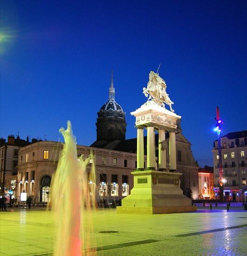
[[[174,112],[172,109],[172,100],[169,98],[169,94],[166,93],[166,84],[165,81],[154,71],[151,71],[149,74],[149,82],[147,84],[147,88],[143,87],[143,93],[148,100],[153,100],[159,106],[165,108],[165,104],[170,107],[170,110]]]

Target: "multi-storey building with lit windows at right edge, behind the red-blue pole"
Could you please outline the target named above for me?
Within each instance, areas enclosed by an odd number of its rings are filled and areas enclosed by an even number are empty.
[[[247,130],[221,137],[223,176],[226,179],[226,200],[242,201],[247,197]],[[213,172],[215,194],[219,181],[218,141],[213,142]]]

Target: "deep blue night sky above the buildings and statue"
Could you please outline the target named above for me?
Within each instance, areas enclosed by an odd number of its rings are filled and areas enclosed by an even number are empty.
[[[185,137],[212,165],[216,106],[223,134],[247,129],[247,1],[1,1],[0,136],[96,140],[108,100],[130,115],[146,100],[150,71],[165,79]]]

